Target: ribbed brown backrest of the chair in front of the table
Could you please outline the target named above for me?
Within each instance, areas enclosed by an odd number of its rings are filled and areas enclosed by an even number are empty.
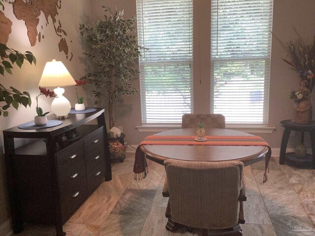
[[[203,229],[238,224],[244,164],[239,161],[164,161],[172,220]]]

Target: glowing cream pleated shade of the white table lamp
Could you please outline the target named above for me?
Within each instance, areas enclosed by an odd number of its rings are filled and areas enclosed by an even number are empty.
[[[48,61],[41,75],[39,86],[64,87],[70,85],[76,85],[76,83],[67,68],[63,65],[63,62],[56,61],[55,59]]]

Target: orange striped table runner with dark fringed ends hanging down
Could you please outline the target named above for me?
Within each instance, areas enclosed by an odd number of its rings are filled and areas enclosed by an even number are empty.
[[[218,145],[218,146],[266,146],[268,151],[265,160],[265,173],[263,182],[267,181],[268,165],[271,157],[271,148],[268,143],[259,136],[205,136],[203,142],[196,142],[196,136],[158,136],[151,135],[144,139],[136,149],[133,172],[135,179],[147,176],[148,164],[144,153],[140,150],[141,145]]]

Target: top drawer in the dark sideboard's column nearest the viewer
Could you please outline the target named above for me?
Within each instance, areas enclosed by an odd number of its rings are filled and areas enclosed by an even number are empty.
[[[57,154],[57,164],[59,172],[66,172],[71,167],[84,160],[84,141],[79,140],[74,144],[64,148]]]

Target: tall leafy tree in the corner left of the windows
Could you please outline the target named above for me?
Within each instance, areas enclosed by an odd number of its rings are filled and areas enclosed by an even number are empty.
[[[83,54],[94,60],[96,68],[81,79],[94,87],[92,92],[96,98],[95,105],[102,97],[108,99],[108,119],[109,129],[111,129],[115,126],[115,100],[125,95],[139,93],[130,82],[140,73],[134,66],[141,56],[139,51],[141,47],[134,35],[135,16],[125,20],[124,11],[112,12],[106,6],[102,8],[105,13],[104,19],[97,21],[94,27],[80,24],[81,35],[86,37],[91,48],[89,52]],[[113,141],[117,142],[117,138],[115,139]],[[109,141],[111,143],[111,139]],[[120,143],[125,145],[123,138]],[[114,152],[111,152],[112,156]]]

